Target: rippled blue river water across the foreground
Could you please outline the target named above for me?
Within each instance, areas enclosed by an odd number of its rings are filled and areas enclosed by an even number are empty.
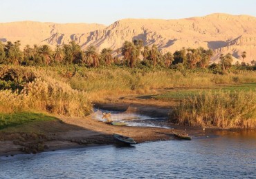
[[[256,131],[0,158],[0,178],[256,178]]]

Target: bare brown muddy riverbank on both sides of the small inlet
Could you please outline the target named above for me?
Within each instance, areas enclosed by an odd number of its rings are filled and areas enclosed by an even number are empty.
[[[152,118],[170,118],[172,109],[179,101],[164,101],[152,98],[152,95],[131,95],[107,98],[105,103],[95,103],[95,109],[105,109]],[[9,127],[0,131],[0,156],[16,154],[36,154],[42,151],[54,151],[95,145],[114,145],[113,134],[134,138],[138,143],[157,140],[172,140],[173,132],[186,132],[190,136],[210,136],[210,130],[201,127],[188,127],[168,123],[167,127],[119,127],[96,120],[93,115],[85,118],[55,116],[56,120],[38,121]],[[122,118],[122,117],[121,117]],[[217,129],[217,128],[216,128]],[[215,129],[214,129],[215,130]]]

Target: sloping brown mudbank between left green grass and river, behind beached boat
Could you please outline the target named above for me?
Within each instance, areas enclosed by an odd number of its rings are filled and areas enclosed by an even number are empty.
[[[150,108],[151,109],[151,108]],[[59,120],[39,121],[24,127],[15,127],[0,132],[0,156],[15,154],[36,154],[91,145],[113,145],[112,134],[122,134],[134,138],[138,143],[156,140],[170,140],[173,129],[159,127],[118,127],[86,118],[57,116]],[[33,132],[28,129],[33,129]]]

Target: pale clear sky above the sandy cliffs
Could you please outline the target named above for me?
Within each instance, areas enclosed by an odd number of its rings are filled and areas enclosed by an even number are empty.
[[[0,22],[102,23],[182,19],[212,13],[256,17],[256,0],[0,0]]]

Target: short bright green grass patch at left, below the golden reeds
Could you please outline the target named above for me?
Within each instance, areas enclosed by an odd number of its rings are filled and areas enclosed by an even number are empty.
[[[12,114],[0,114],[0,130],[8,127],[16,127],[27,123],[56,120],[53,116],[45,114],[30,113],[30,112],[17,112]]]

